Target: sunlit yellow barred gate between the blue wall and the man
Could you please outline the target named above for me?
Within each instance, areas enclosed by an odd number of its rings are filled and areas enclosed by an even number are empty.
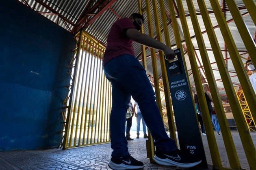
[[[110,141],[111,84],[102,69],[105,47],[85,31],[76,40],[63,149]]]

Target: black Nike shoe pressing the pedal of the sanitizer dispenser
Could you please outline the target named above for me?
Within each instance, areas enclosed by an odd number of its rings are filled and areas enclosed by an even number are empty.
[[[185,153],[179,149],[172,152],[156,151],[154,161],[157,164],[165,166],[177,166],[181,168],[190,168],[201,163],[201,159],[190,153]]]

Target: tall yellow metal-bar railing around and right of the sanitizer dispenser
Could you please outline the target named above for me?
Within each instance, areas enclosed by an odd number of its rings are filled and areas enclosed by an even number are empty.
[[[175,40],[176,40],[176,47],[180,49],[185,49],[188,57],[189,57],[189,62],[191,65],[191,70],[193,73],[193,79],[195,81],[195,87],[197,90],[197,94],[199,96],[199,103],[201,107],[201,111],[205,114],[203,114],[203,121],[205,123],[205,129],[207,133],[207,140],[208,140],[208,145],[210,148],[210,154],[212,157],[213,161],[213,166],[217,169],[223,169],[223,166],[221,164],[221,159],[219,155],[219,150],[217,147],[217,142],[215,139],[215,135],[213,132],[213,126],[210,120],[209,116],[209,111],[208,107],[206,104],[206,100],[203,97],[204,96],[204,91],[203,91],[203,86],[200,77],[200,72],[198,70],[198,65],[197,65],[197,60],[195,56],[195,51],[194,47],[191,41],[191,35],[189,32],[188,24],[187,24],[187,16],[191,17],[191,22],[193,25],[193,30],[195,32],[195,38],[197,41],[198,49],[200,51],[200,55],[202,56],[202,63],[204,66],[204,74],[207,77],[209,89],[211,91],[212,97],[213,97],[213,103],[215,106],[216,114],[219,119],[219,124],[221,128],[221,132],[223,134],[223,142],[226,147],[226,151],[228,154],[228,160],[230,163],[230,167],[233,169],[241,169],[241,165],[239,163],[239,158],[236,153],[236,148],[234,146],[234,141],[232,139],[232,135],[230,132],[230,128],[228,127],[228,121],[226,118],[226,114],[223,109],[221,97],[219,94],[219,90],[215,81],[215,77],[213,74],[213,69],[211,68],[211,63],[208,57],[207,49],[204,44],[204,39],[202,37],[203,32],[201,32],[200,24],[198,23],[197,19],[197,13],[195,12],[194,8],[194,3],[195,1],[192,0],[168,0],[168,7],[166,4],[164,4],[163,0],[152,0],[152,3],[150,1],[145,1],[145,9],[142,10],[142,0],[138,0],[139,3],[139,11],[142,13],[142,11],[145,11],[147,15],[147,20],[148,20],[148,30],[150,36],[154,37],[153,35],[153,28],[156,28],[156,36],[159,41],[162,41],[162,36],[165,37],[165,44],[169,47],[170,45],[170,38],[169,38],[169,32],[167,28],[167,21],[166,18],[169,18],[169,21],[171,21],[171,26],[174,32]],[[189,15],[185,14],[184,12],[184,7],[183,5],[187,3],[187,8],[189,10]],[[230,13],[233,17],[233,20],[236,23],[236,26],[239,30],[239,33],[241,34],[242,40],[245,44],[245,47],[248,51],[248,54],[251,54],[250,57],[252,61],[256,60],[255,59],[255,53],[256,53],[256,47],[255,43],[253,42],[253,39],[250,36],[245,23],[243,22],[243,15],[241,15],[239,8],[236,6],[236,3],[234,0],[226,0],[226,3],[228,5],[228,8],[230,9]],[[255,21],[255,2],[253,0],[244,0],[245,6],[247,7],[247,10],[249,14],[251,15],[253,21]],[[228,49],[230,58],[232,60],[232,63],[234,65],[234,69],[236,70],[236,74],[238,76],[239,81],[241,82],[241,86],[244,89],[244,94],[246,98],[249,98],[250,101],[248,102],[249,108],[252,108],[253,110],[252,113],[256,113],[256,96],[253,93],[252,85],[249,82],[249,79],[247,77],[247,74],[245,72],[243,62],[241,60],[241,56],[239,55],[238,49],[234,43],[234,39],[232,38],[232,34],[230,32],[230,29],[227,25],[227,21],[225,17],[223,16],[223,11],[221,10],[221,7],[219,5],[219,2],[217,0],[210,0],[210,4],[213,9],[213,13],[215,14],[215,18],[219,24],[219,28],[221,30],[221,34],[223,36],[223,39],[226,43],[226,47]],[[243,117],[243,111],[240,107],[239,100],[236,97],[236,91],[234,90],[234,86],[232,84],[232,80],[230,77],[230,74],[228,72],[226,62],[224,60],[223,54],[221,52],[221,49],[219,47],[219,42],[217,40],[211,19],[209,17],[208,9],[206,8],[206,4],[202,0],[197,0],[197,5],[200,8],[200,15],[202,16],[202,20],[204,22],[204,26],[206,28],[206,32],[210,41],[210,45],[213,50],[213,54],[216,60],[217,67],[219,69],[219,73],[227,94],[227,97],[229,99],[229,103],[232,109],[232,113],[234,116],[234,120],[237,125],[237,129],[239,132],[239,136],[241,138],[241,142],[243,144],[243,148],[245,151],[245,155],[247,157],[248,164],[251,169],[256,168],[256,151],[254,144],[252,142],[252,138],[250,136],[249,130],[247,128],[247,124],[245,122],[245,119]],[[155,25],[152,26],[152,17],[151,13],[152,11],[150,10],[153,8],[153,14],[154,14],[154,23]],[[169,11],[167,10],[169,8]],[[160,9],[160,12],[158,10]],[[159,13],[161,14],[161,18],[158,16]],[[180,26],[178,25],[177,18],[179,19],[179,22],[181,24],[182,30],[183,30],[183,35],[185,38],[185,43],[186,45],[182,44],[182,39],[180,37]],[[163,27],[163,33],[160,30],[160,22],[159,19],[162,21],[162,27]],[[249,38],[248,38],[249,37]],[[143,55],[143,53],[142,53]],[[157,70],[154,69],[156,68],[156,57],[155,57],[155,51],[154,49],[151,49],[151,55],[152,55],[152,67],[153,67],[153,72],[154,72],[154,77],[157,77]],[[166,71],[165,71],[165,66],[164,66],[164,56],[161,51],[159,51],[160,55],[160,62],[161,62],[161,68],[162,68],[162,75],[163,75],[163,88],[165,93],[165,100],[166,104],[171,104],[171,101],[169,100],[169,85],[168,81],[166,81]],[[182,54],[183,55],[183,54]],[[184,58],[184,55],[182,56]],[[146,63],[145,57],[142,56],[143,63]],[[185,61],[185,60],[183,60]],[[255,61],[256,62],[256,61]],[[184,66],[186,67],[186,63],[184,63]],[[187,69],[187,68],[186,68]],[[188,74],[188,73],[186,73]],[[187,76],[188,77],[188,76]],[[156,90],[156,102],[158,103],[158,107],[161,108],[161,103],[159,103],[158,99],[160,98],[160,94],[157,92],[159,91],[159,83],[158,79],[154,79],[154,84],[155,84],[155,90]],[[191,93],[192,95],[192,93]],[[171,108],[171,105],[170,105]],[[167,109],[166,114],[168,115],[168,120],[170,121],[169,123],[169,129],[170,129],[170,136],[174,139],[175,137],[175,129],[174,125],[172,124],[173,122],[173,113],[171,109]],[[255,114],[252,115],[252,118],[255,118]],[[255,119],[254,119],[255,120]],[[152,141],[152,140],[151,140]],[[148,144],[148,143],[147,143]],[[152,143],[148,144],[147,147],[148,157],[152,161],[152,157],[154,156],[154,147],[152,147]],[[227,167],[228,168],[228,167]]]

